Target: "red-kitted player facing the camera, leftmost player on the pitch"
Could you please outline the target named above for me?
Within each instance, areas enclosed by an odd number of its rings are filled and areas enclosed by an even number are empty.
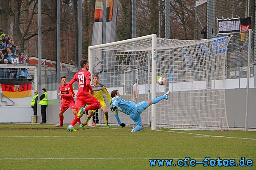
[[[61,108],[59,112],[60,117],[60,124],[56,124],[54,126],[56,127],[63,127],[63,120],[64,120],[64,112],[70,108],[73,112],[73,114],[76,116],[76,104],[74,100],[74,95],[72,94],[69,85],[67,84],[67,77],[61,76],[61,85],[59,85],[59,89],[61,93],[58,93],[58,96],[61,96],[60,102],[61,102]],[[62,102],[63,99],[63,102]],[[78,120],[78,123],[81,124],[80,119]]]

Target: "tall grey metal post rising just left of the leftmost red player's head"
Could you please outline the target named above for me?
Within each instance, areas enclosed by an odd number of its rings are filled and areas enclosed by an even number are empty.
[[[61,0],[57,0],[57,77],[56,84],[58,84],[60,77],[60,62],[61,62]],[[57,88],[58,89],[58,88]],[[59,99],[59,96],[58,96]]]

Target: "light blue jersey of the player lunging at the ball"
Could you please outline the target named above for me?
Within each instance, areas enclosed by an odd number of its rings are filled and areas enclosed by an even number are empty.
[[[136,107],[134,102],[126,102],[118,96],[112,98],[112,106],[116,106],[118,111],[121,111],[127,115],[133,113]]]

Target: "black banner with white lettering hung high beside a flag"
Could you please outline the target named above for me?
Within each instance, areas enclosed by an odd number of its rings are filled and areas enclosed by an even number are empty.
[[[236,33],[241,31],[239,18],[218,19],[218,34]]]

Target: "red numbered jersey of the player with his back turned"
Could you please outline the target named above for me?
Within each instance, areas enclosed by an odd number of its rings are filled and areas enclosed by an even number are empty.
[[[86,80],[91,81],[91,73],[86,70],[80,70],[74,75],[72,79],[78,83],[78,92],[76,97],[88,96],[89,88],[86,86]]]

